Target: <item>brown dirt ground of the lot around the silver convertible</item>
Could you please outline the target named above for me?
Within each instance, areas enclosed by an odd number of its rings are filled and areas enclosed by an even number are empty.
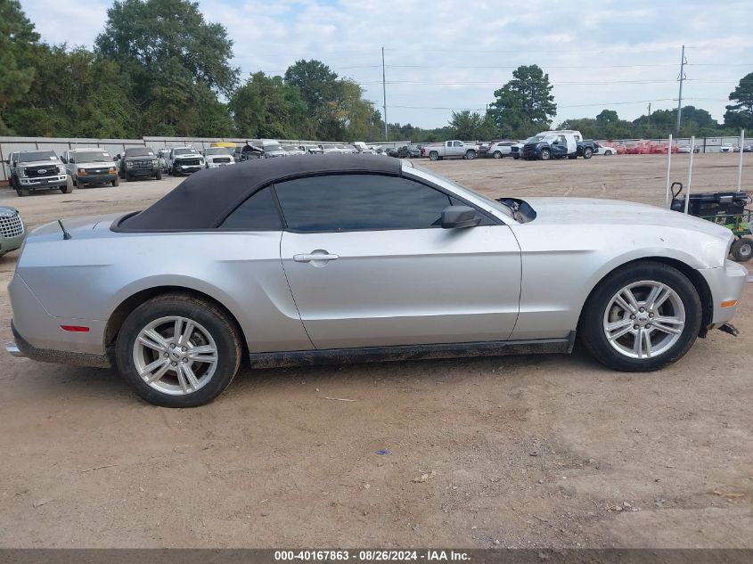
[[[733,189],[736,163],[696,155],[693,191]],[[664,199],[660,156],[423,164],[494,195]],[[34,226],[175,184],[0,188],[0,205]],[[16,256],[0,259],[2,341]],[[2,351],[0,546],[753,547],[747,286],[739,338],[714,331],[652,374],[581,352],[246,370],[168,410],[114,372]]]

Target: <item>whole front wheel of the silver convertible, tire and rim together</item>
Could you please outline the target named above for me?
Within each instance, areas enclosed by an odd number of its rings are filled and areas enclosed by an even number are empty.
[[[682,358],[700,323],[700,298],[692,282],[672,266],[644,262],[610,274],[593,290],[579,332],[602,364],[651,372]]]

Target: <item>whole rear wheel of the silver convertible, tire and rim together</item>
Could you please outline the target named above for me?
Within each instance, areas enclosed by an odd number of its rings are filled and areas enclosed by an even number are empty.
[[[163,407],[196,407],[221,394],[241,364],[241,336],[216,305],[181,294],[152,298],[128,315],[118,370],[135,393]]]

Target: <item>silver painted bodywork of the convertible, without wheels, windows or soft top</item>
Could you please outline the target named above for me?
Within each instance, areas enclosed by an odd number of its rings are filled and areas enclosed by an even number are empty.
[[[612,200],[528,199],[513,219],[475,192],[403,164],[495,217],[468,229],[350,233],[124,233],[116,216],[38,227],[10,295],[30,347],[106,354],[107,326],[127,298],[153,289],[208,295],[238,321],[252,355],[462,342],[569,339],[589,293],[618,266],[675,260],[708,282],[713,323],[737,307],[746,269],[726,260],[732,234],[677,212]],[[209,174],[209,173],[208,173]],[[298,254],[337,258],[298,262]],[[61,325],[85,325],[87,332]]]

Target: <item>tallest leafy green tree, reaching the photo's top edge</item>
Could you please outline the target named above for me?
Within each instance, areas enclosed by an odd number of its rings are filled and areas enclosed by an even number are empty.
[[[209,112],[216,112],[217,94],[230,94],[238,80],[227,30],[204,20],[189,0],[116,0],[107,15],[96,53],[130,77],[130,98],[142,117],[137,128],[158,135],[214,131],[200,106],[211,93]],[[220,122],[215,135],[226,126]]]

